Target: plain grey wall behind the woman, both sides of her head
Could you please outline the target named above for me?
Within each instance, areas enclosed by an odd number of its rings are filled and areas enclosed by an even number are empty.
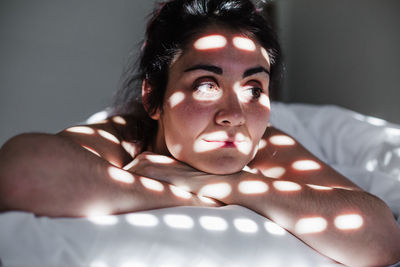
[[[283,100],[400,123],[400,1],[277,0]],[[106,107],[151,0],[0,0],[0,145]]]

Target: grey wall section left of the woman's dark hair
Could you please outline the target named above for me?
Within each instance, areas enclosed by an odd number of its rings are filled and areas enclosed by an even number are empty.
[[[106,107],[153,1],[0,0],[0,145]]]

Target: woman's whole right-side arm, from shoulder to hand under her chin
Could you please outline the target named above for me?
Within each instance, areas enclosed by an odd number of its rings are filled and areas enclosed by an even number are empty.
[[[247,207],[346,265],[381,266],[399,261],[400,229],[386,204],[316,159],[300,144],[291,148],[273,145],[270,137],[283,134],[272,129],[265,137],[269,148],[261,150],[249,164],[259,170],[257,173],[195,173],[179,162],[155,166],[143,156],[139,156],[132,170],[225,204]],[[313,160],[320,167],[293,168],[293,162],[304,159]],[[262,174],[277,166],[285,168],[279,179]],[[185,178],[188,176],[193,178]]]

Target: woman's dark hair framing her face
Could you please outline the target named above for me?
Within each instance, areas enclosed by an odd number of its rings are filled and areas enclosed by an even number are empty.
[[[153,139],[157,122],[144,111],[141,99],[143,80],[152,90],[146,103],[150,113],[162,108],[168,71],[176,55],[185,50],[196,33],[208,25],[222,25],[248,34],[264,47],[270,57],[270,91],[281,76],[281,52],[271,23],[251,0],[171,0],[158,4],[146,30],[138,62],[131,61],[117,92],[114,114],[133,115],[141,121],[133,138]]]

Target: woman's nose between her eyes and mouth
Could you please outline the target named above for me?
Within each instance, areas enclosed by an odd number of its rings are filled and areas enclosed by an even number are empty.
[[[243,108],[236,94],[229,96],[221,103],[215,121],[222,126],[240,126],[245,123]]]

